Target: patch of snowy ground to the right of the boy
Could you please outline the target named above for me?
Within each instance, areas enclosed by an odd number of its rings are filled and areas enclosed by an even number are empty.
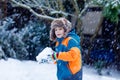
[[[96,69],[90,66],[83,67],[83,80],[120,80],[120,72],[109,70],[110,75],[107,74],[108,70],[102,70],[103,75],[98,75]]]

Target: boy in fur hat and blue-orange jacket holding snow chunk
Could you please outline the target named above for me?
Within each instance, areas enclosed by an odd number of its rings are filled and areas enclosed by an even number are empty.
[[[52,21],[50,39],[56,42],[52,58],[57,63],[58,80],[82,80],[80,38],[65,18]]]

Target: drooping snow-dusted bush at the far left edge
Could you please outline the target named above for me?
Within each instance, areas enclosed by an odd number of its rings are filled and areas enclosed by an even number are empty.
[[[0,45],[7,57],[28,59],[28,51],[23,41],[14,33],[14,30],[7,31],[7,27],[12,22],[11,18],[6,18],[0,25]]]

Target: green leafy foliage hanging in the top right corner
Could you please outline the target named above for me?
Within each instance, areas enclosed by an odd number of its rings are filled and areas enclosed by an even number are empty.
[[[95,4],[103,7],[103,15],[112,22],[120,20],[120,0],[93,0]]]

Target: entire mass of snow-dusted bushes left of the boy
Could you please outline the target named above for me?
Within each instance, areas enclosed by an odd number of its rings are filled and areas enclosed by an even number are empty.
[[[37,18],[30,20],[22,29],[10,26],[14,21],[6,17],[0,25],[0,45],[7,57],[35,60],[36,55],[49,46],[49,27]]]

